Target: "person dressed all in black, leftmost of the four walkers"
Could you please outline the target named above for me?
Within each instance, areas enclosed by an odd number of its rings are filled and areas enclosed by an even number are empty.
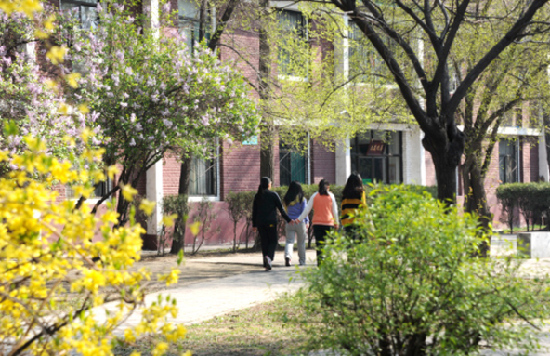
[[[271,179],[263,177],[252,205],[252,230],[260,233],[264,267],[268,271],[271,270],[277,248],[277,209],[287,223],[292,221],[283,209],[279,194],[270,189]]]

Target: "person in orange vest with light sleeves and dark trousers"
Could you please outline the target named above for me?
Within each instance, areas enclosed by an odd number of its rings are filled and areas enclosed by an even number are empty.
[[[323,245],[329,231],[338,229],[338,205],[334,194],[330,191],[330,184],[327,180],[321,179],[319,191],[313,193],[307,203],[306,209],[294,221],[300,223],[313,209],[313,235],[315,236],[315,249],[317,250],[317,266],[323,260]]]

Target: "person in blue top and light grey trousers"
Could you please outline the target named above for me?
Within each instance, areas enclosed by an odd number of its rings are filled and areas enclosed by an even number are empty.
[[[296,219],[306,209],[307,199],[304,197],[304,190],[297,181],[290,182],[288,191],[283,197],[283,205],[291,219]],[[285,266],[292,265],[292,252],[294,243],[298,239],[298,263],[300,266],[306,264],[306,237],[309,227],[309,218],[298,224],[286,223],[286,243],[285,243]]]

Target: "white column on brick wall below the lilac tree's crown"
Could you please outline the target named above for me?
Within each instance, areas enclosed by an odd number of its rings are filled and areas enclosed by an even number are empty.
[[[162,228],[162,200],[164,198],[163,166],[163,160],[160,160],[147,170],[146,197],[147,200],[156,203],[155,210],[153,210],[153,214],[147,224],[147,233],[151,235],[158,235]]]

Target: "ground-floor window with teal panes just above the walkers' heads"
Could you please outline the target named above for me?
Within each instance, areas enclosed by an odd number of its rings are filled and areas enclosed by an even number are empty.
[[[280,184],[290,185],[293,180],[309,184],[308,155],[296,152],[290,146],[279,141]]]

